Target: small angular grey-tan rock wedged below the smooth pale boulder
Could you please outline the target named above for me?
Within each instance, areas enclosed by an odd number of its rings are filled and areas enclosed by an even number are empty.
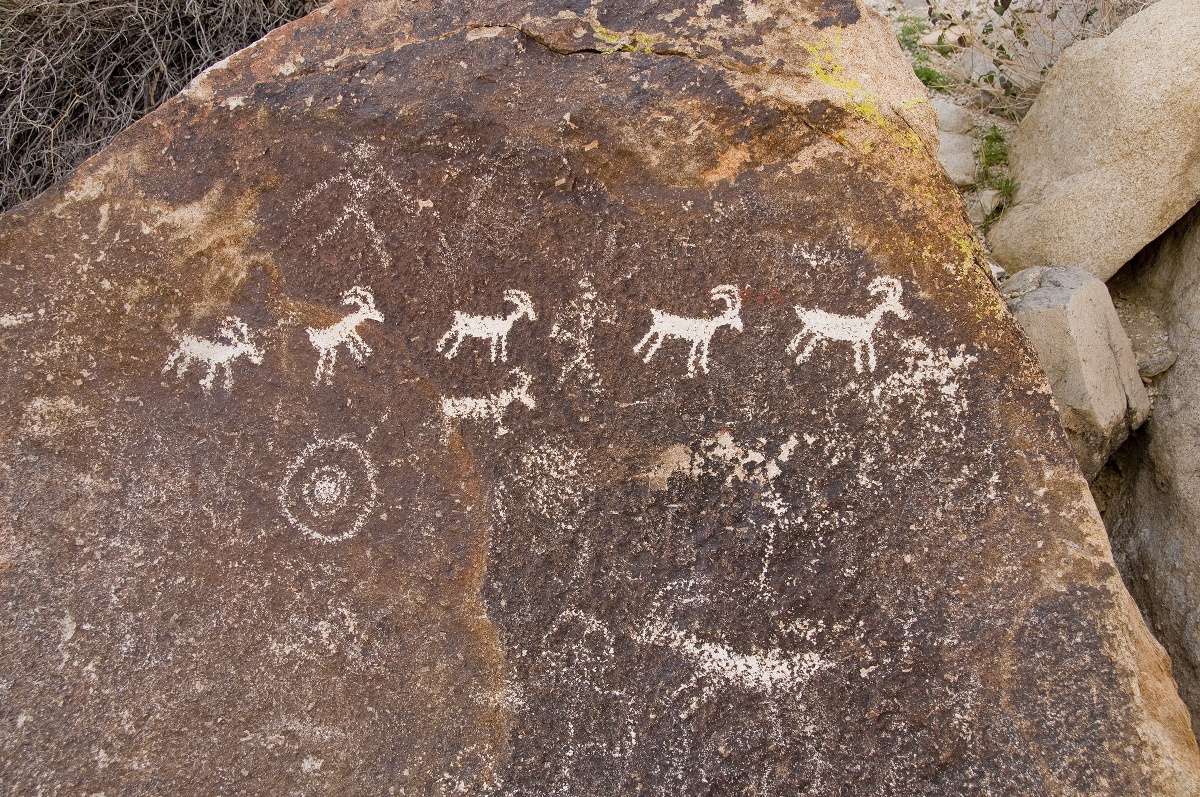
[[[1084,269],[1037,266],[1004,282],[1001,294],[1038,353],[1070,448],[1091,481],[1150,415],[1109,290]]]

